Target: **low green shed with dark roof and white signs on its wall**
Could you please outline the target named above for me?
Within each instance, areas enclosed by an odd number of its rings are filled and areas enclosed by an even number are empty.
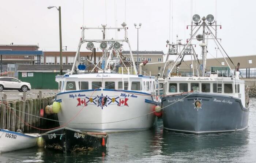
[[[72,65],[63,65],[63,72]],[[60,65],[19,65],[18,79],[31,84],[32,89],[58,89],[55,76],[60,74]]]

